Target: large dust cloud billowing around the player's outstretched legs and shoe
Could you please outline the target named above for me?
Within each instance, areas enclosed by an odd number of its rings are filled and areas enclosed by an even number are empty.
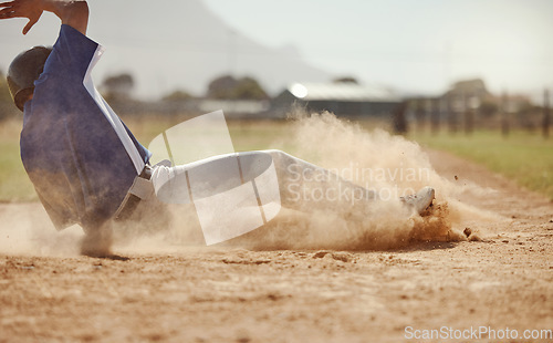
[[[467,240],[462,232],[466,218],[494,218],[456,199],[463,193],[489,190],[448,181],[414,142],[383,129],[367,132],[332,113],[296,110],[290,117],[294,123],[286,145],[295,147],[292,155],[374,191],[382,201],[356,206],[334,201],[331,209],[311,212],[283,209],[267,227],[228,245],[252,249],[397,249],[420,241]],[[399,198],[425,186],[436,189],[436,199],[419,216]]]

